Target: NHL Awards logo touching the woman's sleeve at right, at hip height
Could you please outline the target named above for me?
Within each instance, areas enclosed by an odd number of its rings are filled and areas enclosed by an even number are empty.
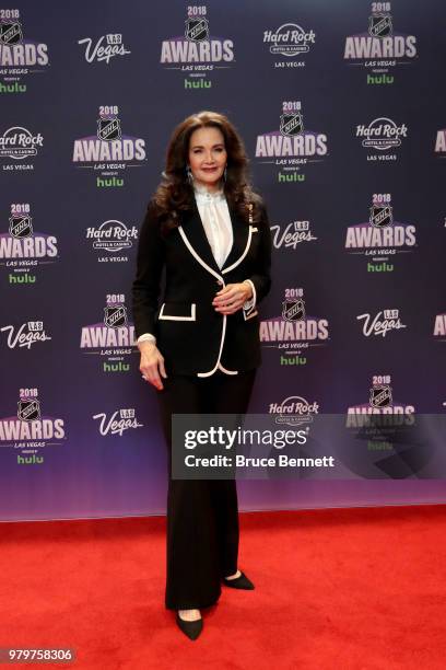
[[[281,366],[306,365],[309,348],[327,344],[328,338],[327,319],[307,314],[302,288],[286,289],[281,315],[260,323],[262,347],[278,349]]]

